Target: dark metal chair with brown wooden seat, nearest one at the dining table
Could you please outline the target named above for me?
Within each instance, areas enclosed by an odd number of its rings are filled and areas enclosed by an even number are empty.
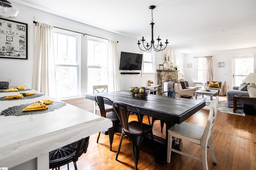
[[[129,111],[127,110],[127,107],[129,107]],[[123,104],[120,102],[113,102],[113,109],[116,112],[122,127],[120,143],[119,143],[118,151],[116,153],[116,160],[118,160],[118,154],[120,153],[120,149],[121,149],[121,145],[124,137],[128,137],[129,141],[132,142],[132,151],[133,151],[135,170],[137,170],[139,154],[140,154],[140,144],[142,142],[142,139],[144,139],[146,135],[150,134],[152,145],[154,148],[152,126],[150,125],[150,122],[148,122],[149,125],[146,123],[142,123],[143,115],[141,117],[140,111],[134,106]],[[130,114],[137,115],[138,121],[129,122]]]

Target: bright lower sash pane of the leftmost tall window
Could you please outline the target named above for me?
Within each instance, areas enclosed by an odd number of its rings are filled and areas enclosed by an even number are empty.
[[[69,66],[55,67],[56,96],[65,98],[78,95],[77,68]]]

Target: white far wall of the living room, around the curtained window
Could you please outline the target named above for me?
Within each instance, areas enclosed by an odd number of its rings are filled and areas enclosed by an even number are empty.
[[[189,82],[190,86],[193,86],[193,82],[196,82],[196,58],[200,56],[212,56],[213,64],[213,80],[222,82],[226,81],[228,89],[232,89],[232,57],[244,56],[244,55],[254,55],[254,61],[256,63],[256,47],[245,48],[245,49],[234,49],[225,51],[211,51],[207,53],[193,53],[186,54],[184,59],[184,64],[192,63],[192,68],[185,67],[185,78]],[[218,63],[224,62],[225,67],[219,68]],[[254,68],[256,64],[254,63]]]

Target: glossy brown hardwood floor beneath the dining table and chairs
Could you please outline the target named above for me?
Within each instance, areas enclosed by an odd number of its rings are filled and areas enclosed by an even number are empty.
[[[208,110],[201,109],[192,115],[186,122],[200,126],[205,126],[208,118]],[[144,117],[146,118],[146,117]],[[154,123],[153,133],[165,137],[161,133],[160,121]],[[165,125],[163,132],[165,131]],[[109,150],[108,135],[101,134],[99,143],[96,143],[97,134],[90,136],[88,151],[83,154],[78,162],[78,170],[133,170],[134,160],[132,146],[127,138],[123,140],[118,160],[116,161],[116,151],[119,145],[120,133],[114,135],[112,145],[113,151]],[[218,112],[213,134],[214,154],[217,164],[213,164],[209,149],[207,150],[207,160],[209,170],[256,170],[256,115],[232,115]],[[200,146],[183,141],[183,151],[200,156]],[[61,170],[66,170],[62,166]],[[70,163],[70,170],[74,166]],[[142,143],[140,148],[140,158],[138,162],[139,170],[202,170],[202,163],[198,160],[174,154],[170,164],[163,166],[154,160],[152,146]]]

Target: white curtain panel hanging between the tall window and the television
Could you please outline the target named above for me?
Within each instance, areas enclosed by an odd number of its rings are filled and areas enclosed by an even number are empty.
[[[108,91],[119,91],[117,42],[108,40]]]

